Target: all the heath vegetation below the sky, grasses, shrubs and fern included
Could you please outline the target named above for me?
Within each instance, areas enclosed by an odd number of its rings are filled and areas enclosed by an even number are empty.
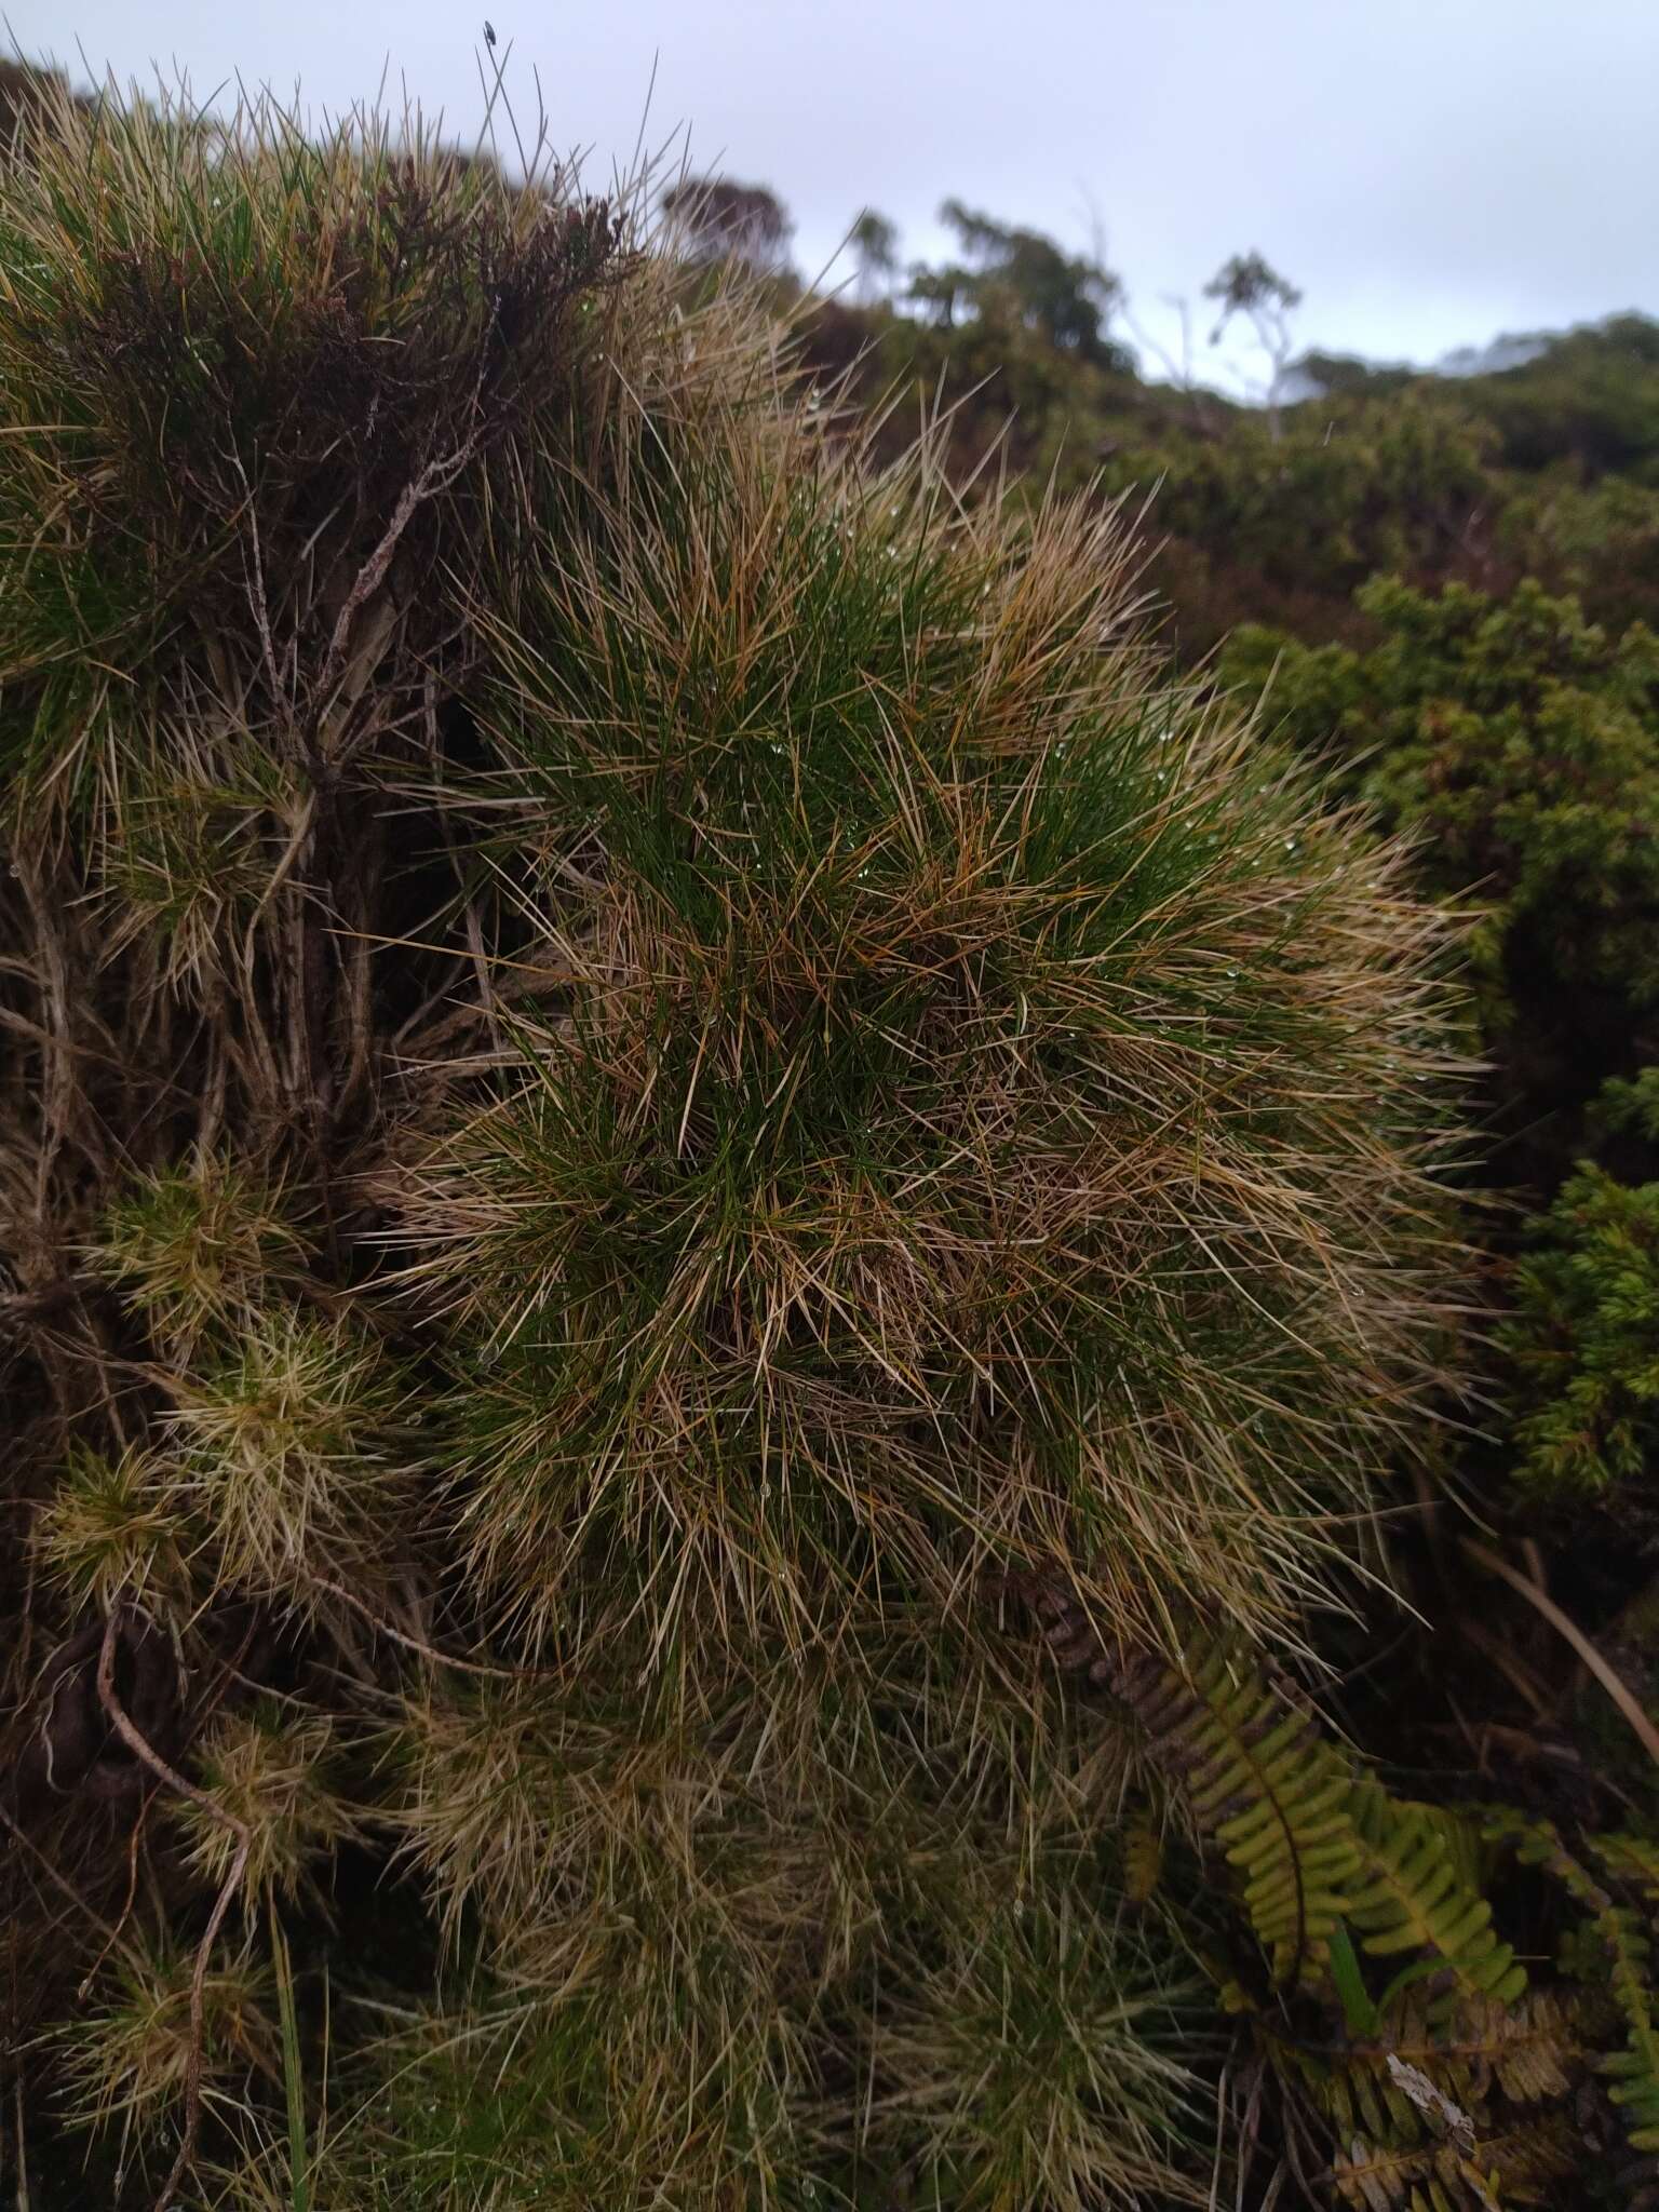
[[[0,122],[18,2205],[1659,2203],[1659,327]]]

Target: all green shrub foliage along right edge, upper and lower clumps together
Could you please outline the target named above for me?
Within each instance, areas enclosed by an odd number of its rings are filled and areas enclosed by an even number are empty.
[[[1537,1208],[1498,1237],[1502,1436],[1535,1500],[1619,1498],[1632,1535],[1659,1440],[1659,641],[1540,584],[1493,602],[1380,580],[1360,606],[1374,650],[1243,630],[1223,675],[1265,686],[1270,723],[1480,916],[1502,1166]]]

